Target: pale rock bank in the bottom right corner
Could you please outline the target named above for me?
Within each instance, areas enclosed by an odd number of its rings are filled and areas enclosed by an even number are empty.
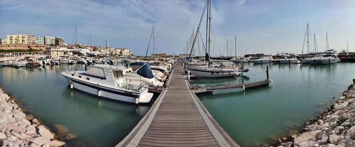
[[[353,79],[355,83],[355,79]],[[351,84],[343,96],[317,119],[306,125],[293,141],[280,146],[348,146],[355,147],[355,86]]]

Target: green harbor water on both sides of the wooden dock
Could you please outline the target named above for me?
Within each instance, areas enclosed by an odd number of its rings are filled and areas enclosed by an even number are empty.
[[[216,86],[265,80],[266,66],[273,80],[268,87],[198,94],[209,113],[241,146],[271,143],[272,137],[286,136],[300,129],[305,121],[327,109],[335,101],[333,96],[341,96],[355,73],[354,63],[330,66],[246,63],[244,68],[251,70],[243,76],[194,80],[191,84]],[[55,124],[65,126],[66,133],[76,136],[69,145],[116,145],[150,106],[99,99],[70,89],[60,73],[73,67],[0,67],[0,85],[15,97],[27,114],[40,118],[46,126],[53,130]],[[84,70],[82,66],[77,68]]]

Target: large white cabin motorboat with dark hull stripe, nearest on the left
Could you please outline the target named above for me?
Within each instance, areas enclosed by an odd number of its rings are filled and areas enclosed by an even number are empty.
[[[148,84],[127,80],[125,74],[131,68],[123,66],[93,65],[88,71],[64,71],[70,88],[76,88],[97,96],[130,103],[150,103],[153,93]]]

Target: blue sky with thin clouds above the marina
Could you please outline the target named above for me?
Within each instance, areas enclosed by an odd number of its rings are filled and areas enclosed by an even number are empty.
[[[197,27],[205,0],[147,1],[20,1],[0,0],[0,38],[9,34],[63,37],[71,44],[77,25],[77,41],[91,45],[129,48],[145,55],[154,25],[155,53],[186,53],[186,42]],[[211,56],[302,53],[307,23],[309,52],[330,48],[355,52],[355,1],[212,0]],[[206,17],[200,27],[195,54],[203,54]],[[200,36],[200,35],[198,35]],[[191,46],[191,45],[189,45]],[[153,53],[152,42],[148,55]],[[191,47],[189,48],[189,52]],[[303,53],[307,53],[307,45]]]

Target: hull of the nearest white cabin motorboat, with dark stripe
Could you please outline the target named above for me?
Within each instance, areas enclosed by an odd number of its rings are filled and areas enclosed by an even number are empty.
[[[143,92],[140,93],[128,92],[124,90],[88,83],[85,81],[79,81],[77,79],[67,77],[64,74],[62,75],[66,78],[69,85],[73,84],[73,88],[108,99],[136,103],[135,99],[138,98],[139,103],[150,103],[153,97],[153,93],[148,92],[148,86]]]

